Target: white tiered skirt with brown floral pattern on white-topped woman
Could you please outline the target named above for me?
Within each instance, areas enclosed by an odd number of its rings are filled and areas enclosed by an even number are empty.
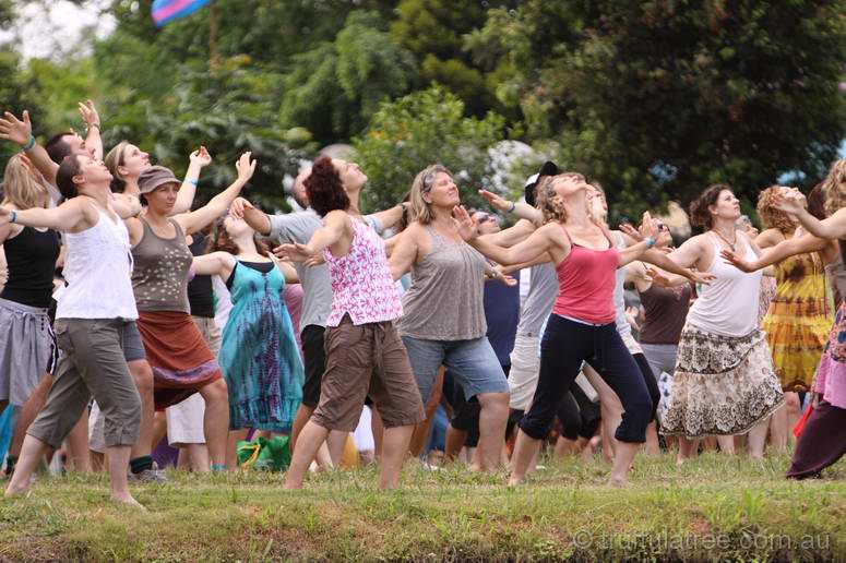
[[[662,420],[665,434],[742,434],[783,403],[764,333],[734,337],[684,326]]]

